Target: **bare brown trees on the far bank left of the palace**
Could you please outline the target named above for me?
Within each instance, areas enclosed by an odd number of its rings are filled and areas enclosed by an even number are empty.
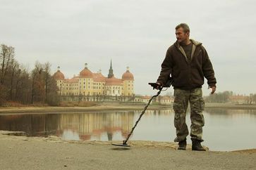
[[[36,62],[32,71],[15,59],[15,48],[0,47],[0,105],[58,105],[57,86],[50,63]]]

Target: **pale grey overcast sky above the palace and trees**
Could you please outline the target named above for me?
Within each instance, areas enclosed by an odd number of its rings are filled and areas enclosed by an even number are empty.
[[[66,78],[88,63],[107,76],[112,59],[121,78],[130,67],[135,93],[152,95],[175,27],[190,26],[190,38],[207,49],[217,92],[256,93],[256,1],[243,0],[0,0],[0,44],[16,48],[16,60],[58,66]],[[209,94],[207,84],[204,95]],[[173,89],[168,90],[173,93]]]

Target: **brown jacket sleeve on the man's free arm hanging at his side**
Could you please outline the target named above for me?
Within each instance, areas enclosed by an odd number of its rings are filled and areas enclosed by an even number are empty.
[[[216,86],[216,78],[214,76],[214,70],[212,67],[211,60],[209,60],[209,56],[207,51],[202,46],[203,60],[202,60],[202,72],[204,73],[205,78],[207,79],[207,84],[209,86]]]

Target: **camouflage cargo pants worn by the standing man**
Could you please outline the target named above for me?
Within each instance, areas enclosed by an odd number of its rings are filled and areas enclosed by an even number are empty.
[[[175,112],[174,126],[176,127],[176,138],[174,142],[185,140],[188,136],[188,126],[185,123],[185,115],[190,103],[190,136],[197,140],[202,140],[202,126],[205,125],[205,119],[202,115],[205,102],[202,98],[202,89],[181,90],[174,89],[173,110]]]

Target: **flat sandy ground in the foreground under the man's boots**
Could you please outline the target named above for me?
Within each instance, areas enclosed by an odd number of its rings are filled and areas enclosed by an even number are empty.
[[[175,143],[150,141],[120,148],[110,142],[4,133],[0,131],[1,169],[256,169],[256,150],[197,152],[188,146],[184,151],[176,150]]]

